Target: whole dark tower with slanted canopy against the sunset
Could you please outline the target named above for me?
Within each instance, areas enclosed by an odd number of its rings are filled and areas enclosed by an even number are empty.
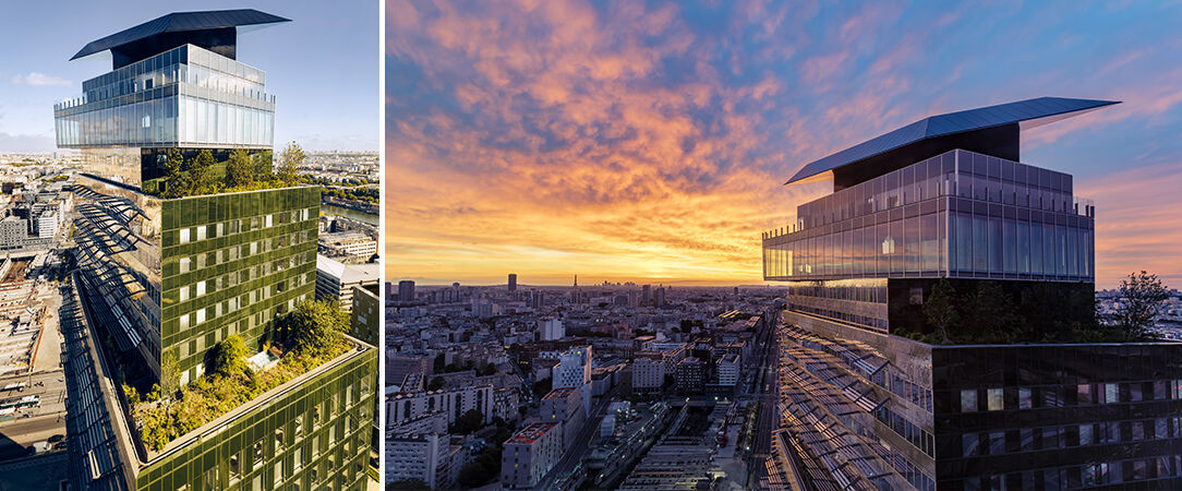
[[[764,235],[764,276],[788,288],[769,445],[781,477],[846,489],[1182,485],[1182,344],[1080,343],[1051,322],[1006,338],[970,329],[1017,319],[966,309],[1009,298],[1032,316],[1091,316],[1095,208],[1071,175],[1020,163],[1019,134],[1110,104],[1046,97],[933,116],[788,181],[832,179],[833,193]],[[952,342],[924,311],[942,278],[976,312],[947,327]]]

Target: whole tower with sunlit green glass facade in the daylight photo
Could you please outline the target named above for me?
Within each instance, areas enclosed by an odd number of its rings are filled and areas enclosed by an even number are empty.
[[[269,166],[275,99],[264,72],[235,59],[236,43],[242,27],[284,21],[173,13],[74,56],[113,59],[54,108],[58,146],[84,155],[74,278],[96,341],[95,360],[67,363],[106,373],[67,368],[92,376],[72,385],[99,388],[69,407],[78,489],[364,487],[377,351],[345,336],[339,355],[293,373],[274,322],[313,298],[319,189],[216,192],[229,187],[217,162],[234,150]],[[190,167],[207,151],[208,167]],[[217,185],[190,187],[201,180]],[[229,336],[245,341],[256,396],[181,414],[168,390],[141,402],[128,389],[199,381]]]

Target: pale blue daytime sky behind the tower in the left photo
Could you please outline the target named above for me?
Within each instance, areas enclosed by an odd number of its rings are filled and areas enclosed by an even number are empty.
[[[86,43],[170,12],[256,8],[292,22],[239,37],[238,59],[267,72],[275,146],[378,149],[378,2],[6,1],[0,15],[0,151],[52,151],[53,104],[111,70],[110,56],[70,62]]]

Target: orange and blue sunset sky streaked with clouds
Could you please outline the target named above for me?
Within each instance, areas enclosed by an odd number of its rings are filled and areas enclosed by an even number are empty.
[[[1182,286],[1182,4],[387,1],[391,280],[761,283],[805,163],[933,114],[1024,135],[1098,207],[1097,284]]]

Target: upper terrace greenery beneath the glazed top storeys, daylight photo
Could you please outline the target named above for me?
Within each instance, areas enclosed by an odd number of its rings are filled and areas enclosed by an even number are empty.
[[[271,150],[252,154],[238,149],[217,162],[209,150],[186,159],[174,148],[164,162],[164,176],[144,181],[141,187],[144,193],[170,199],[291,187],[300,183],[298,168],[306,157],[296,142],[279,153],[278,168]]]

